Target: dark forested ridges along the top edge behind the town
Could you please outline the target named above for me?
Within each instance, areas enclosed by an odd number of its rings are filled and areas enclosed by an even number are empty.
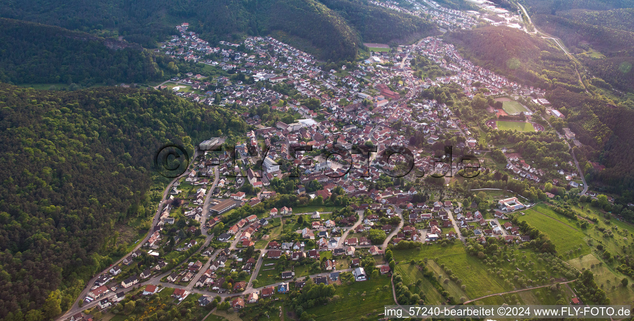
[[[0,8],[0,16],[84,32],[114,30],[127,41],[150,48],[175,34],[174,25],[180,22],[189,22],[193,30],[212,42],[231,34],[281,34],[287,36],[286,41],[325,60],[353,60],[361,41],[408,39],[413,32],[425,32],[430,27],[420,18],[392,13],[365,0],[337,2],[10,0]],[[344,18],[324,3],[351,12]]]

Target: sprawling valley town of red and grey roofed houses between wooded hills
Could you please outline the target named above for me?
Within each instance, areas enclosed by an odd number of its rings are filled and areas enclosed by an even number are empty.
[[[484,13],[431,0],[408,1],[410,9],[371,2],[431,16],[445,31],[482,21],[525,28],[517,13],[488,1],[474,1]],[[262,300],[297,296],[307,284],[372,282],[367,291],[374,292],[377,284],[393,287],[398,274],[399,287],[413,291],[403,266],[420,261],[421,251],[434,253],[425,257],[433,273],[424,280],[437,299],[429,294],[425,302],[469,303],[486,294],[446,270],[439,254],[458,246],[474,252],[479,265],[492,244],[510,249],[508,262],[531,249],[532,263],[512,265],[504,280],[496,279],[502,268],[478,266],[499,287],[491,293],[574,279],[574,268],[560,264],[548,277],[537,268],[524,271],[538,260],[540,269],[559,260],[532,250],[540,235],[524,217],[555,211],[557,199],[598,196],[569,153],[581,146],[574,132],[553,127],[565,116],[545,99],[546,89],[477,66],[437,36],[405,46],[366,44],[365,59],[337,65],[273,37],[210,46],[186,22],[175,30],[156,51],[202,63],[204,72],[154,89],[232,106],[248,128],[198,142],[187,170],[167,187],[150,232],[94,276],[65,319],[90,320],[91,312],[112,310],[130,294],[177,305],[194,295],[198,306],[240,313]],[[475,116],[475,104],[487,119]],[[517,138],[546,132],[559,148],[548,155]],[[566,258],[578,256],[569,251]],[[452,292],[443,293],[439,280]],[[565,301],[581,303],[566,291]],[[391,292],[384,299],[394,301]],[[277,306],[270,318],[283,320]]]

